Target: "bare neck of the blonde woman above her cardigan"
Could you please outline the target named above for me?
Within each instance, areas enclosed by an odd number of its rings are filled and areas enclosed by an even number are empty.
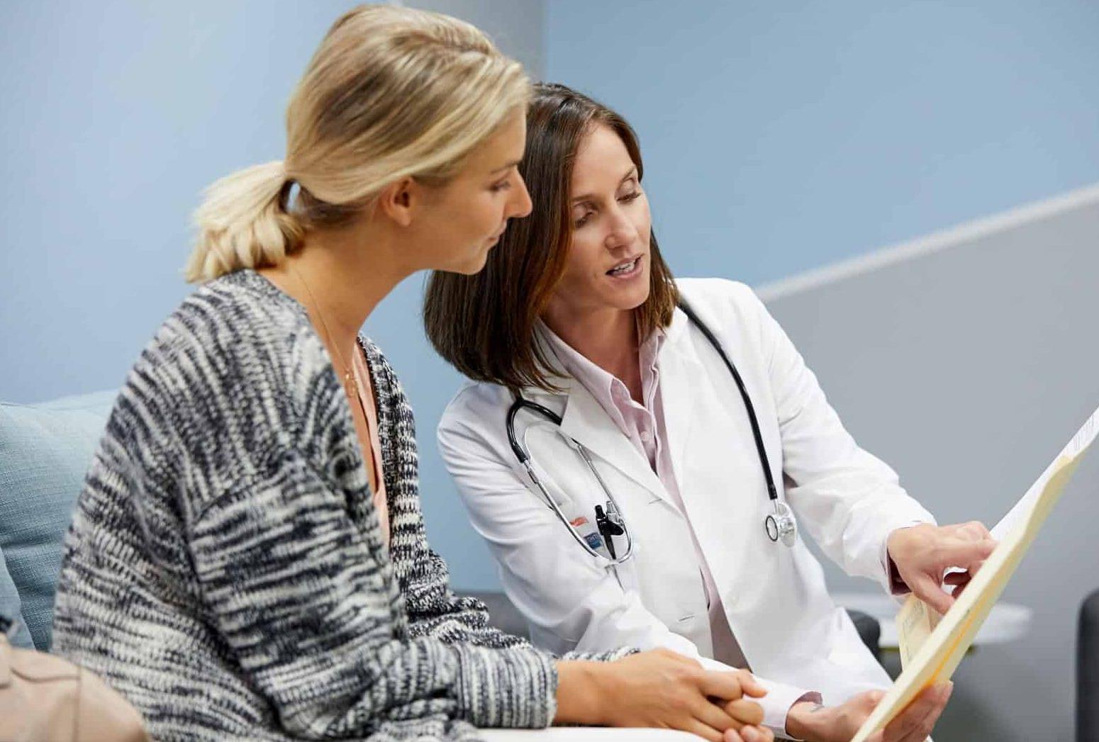
[[[401,252],[397,235],[369,225],[314,230],[300,250],[259,273],[306,308],[324,343],[349,364],[370,312],[415,270]]]

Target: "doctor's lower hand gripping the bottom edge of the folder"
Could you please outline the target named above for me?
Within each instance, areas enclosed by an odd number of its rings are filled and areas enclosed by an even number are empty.
[[[953,683],[924,688],[885,729],[870,734],[867,742],[923,742],[953,689]],[[786,731],[807,742],[851,742],[885,695],[884,690],[867,690],[852,696],[842,706],[795,704],[786,718]]]

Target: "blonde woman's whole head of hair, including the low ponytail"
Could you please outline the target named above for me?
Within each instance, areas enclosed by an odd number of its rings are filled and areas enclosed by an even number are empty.
[[[307,229],[346,222],[397,180],[446,182],[529,96],[522,66],[469,23],[392,5],[345,13],[290,98],[286,160],[207,190],[187,280],[276,265]]]

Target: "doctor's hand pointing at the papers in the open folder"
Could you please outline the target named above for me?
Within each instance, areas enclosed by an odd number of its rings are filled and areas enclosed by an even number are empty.
[[[890,533],[886,549],[915,597],[945,613],[996,543],[988,529],[977,521],[956,525],[922,523]],[[953,596],[942,588],[943,574],[951,567],[965,569],[946,577],[947,584],[956,586]]]

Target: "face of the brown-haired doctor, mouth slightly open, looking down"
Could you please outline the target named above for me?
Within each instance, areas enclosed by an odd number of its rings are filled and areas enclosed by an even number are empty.
[[[621,137],[598,124],[580,141],[569,186],[573,237],[551,311],[633,310],[648,298],[648,200]]]

